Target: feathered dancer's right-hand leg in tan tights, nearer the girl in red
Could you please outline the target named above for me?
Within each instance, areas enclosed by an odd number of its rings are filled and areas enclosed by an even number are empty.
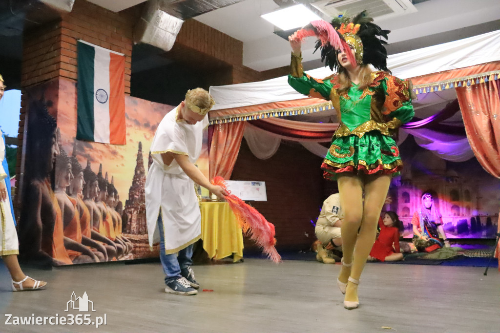
[[[390,179],[391,176],[386,174],[365,177],[361,227],[356,238],[353,265],[350,272],[350,277],[353,279],[359,280],[366,259],[375,241],[376,225],[385,197],[387,196],[387,191],[389,190]],[[344,300],[359,301],[357,297],[357,284],[352,282],[347,283]]]

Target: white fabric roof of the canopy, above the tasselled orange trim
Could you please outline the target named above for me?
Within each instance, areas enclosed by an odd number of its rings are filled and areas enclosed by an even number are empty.
[[[450,41],[412,51],[391,54],[387,67],[392,75],[408,78],[444,70],[462,68],[500,60],[500,30]],[[331,75],[328,67],[308,70],[312,77]],[[270,80],[211,86],[210,94],[217,101],[214,110],[303,98],[288,85],[287,76]]]

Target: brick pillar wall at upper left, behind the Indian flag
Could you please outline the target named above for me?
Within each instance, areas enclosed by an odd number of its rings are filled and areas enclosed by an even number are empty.
[[[76,0],[71,12],[60,20],[24,31],[19,145],[24,136],[26,88],[58,77],[76,80],[77,39],[125,54],[125,93],[130,94],[132,31],[140,12],[134,7],[115,13],[85,0]],[[16,175],[20,172],[21,151],[18,149]]]

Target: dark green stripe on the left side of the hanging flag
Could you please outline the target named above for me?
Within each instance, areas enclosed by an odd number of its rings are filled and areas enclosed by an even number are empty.
[[[94,140],[94,112],[93,112],[93,91],[94,91],[94,56],[93,46],[82,42],[77,43],[78,51],[78,109],[76,138],[78,140]]]

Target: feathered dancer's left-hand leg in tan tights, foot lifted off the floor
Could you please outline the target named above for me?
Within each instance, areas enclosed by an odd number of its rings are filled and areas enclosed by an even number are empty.
[[[357,230],[361,223],[363,211],[363,183],[360,178],[352,174],[339,175],[338,192],[340,193],[340,206],[344,219],[340,226],[342,238],[343,262],[352,262],[352,253],[356,243]],[[347,283],[350,267],[341,266],[338,280]]]

